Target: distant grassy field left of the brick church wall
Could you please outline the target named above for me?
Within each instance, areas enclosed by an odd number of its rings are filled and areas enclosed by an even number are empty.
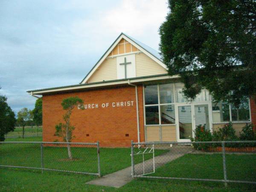
[[[34,126],[33,128],[31,126],[26,126],[24,128],[24,137],[39,137],[42,136],[42,131],[42,126]],[[16,127],[14,131],[11,131],[8,134],[6,134],[6,138],[17,137],[22,137],[22,127]]]

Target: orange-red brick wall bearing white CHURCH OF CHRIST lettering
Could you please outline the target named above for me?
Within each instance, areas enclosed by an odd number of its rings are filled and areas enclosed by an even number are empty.
[[[98,103],[99,108],[79,110],[75,108],[71,115],[71,124],[75,126],[72,142],[100,142],[105,147],[129,147],[131,140],[137,142],[137,113],[135,87],[115,87],[87,90],[83,92],[56,93],[43,96],[43,141],[63,141],[55,137],[55,125],[63,122],[61,101],[70,96],[78,96],[84,104]],[[138,86],[140,141],[144,141],[143,89]],[[133,106],[112,107],[112,102],[134,101]],[[109,103],[102,108],[102,103]],[[89,134],[89,136],[87,136]],[[125,137],[129,134],[129,137]]]

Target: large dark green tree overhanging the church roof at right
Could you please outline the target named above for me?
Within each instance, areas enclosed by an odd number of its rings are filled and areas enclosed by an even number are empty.
[[[255,0],[169,0],[159,33],[163,61],[187,98],[203,88],[236,105],[256,95]]]

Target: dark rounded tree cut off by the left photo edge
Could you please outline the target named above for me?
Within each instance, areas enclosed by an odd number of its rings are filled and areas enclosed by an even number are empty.
[[[5,96],[0,96],[0,141],[4,141],[4,135],[15,129],[15,113],[6,101]]]

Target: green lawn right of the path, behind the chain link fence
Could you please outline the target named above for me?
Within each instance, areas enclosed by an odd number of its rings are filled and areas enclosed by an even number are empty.
[[[227,154],[227,178],[256,181],[256,154]],[[224,179],[222,154],[185,154],[150,176]]]

